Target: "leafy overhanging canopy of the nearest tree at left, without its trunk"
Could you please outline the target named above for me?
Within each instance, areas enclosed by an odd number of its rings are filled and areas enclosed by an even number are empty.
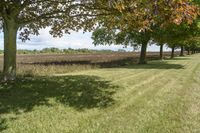
[[[62,36],[63,33],[83,27],[83,20],[87,21],[87,14],[91,14],[89,9],[86,10],[91,3],[86,0],[3,0],[0,2],[0,22],[5,24],[14,19],[21,30],[20,39],[23,41],[29,39],[30,34],[39,35],[39,29],[49,26],[53,36]],[[3,28],[3,25],[0,27]]]

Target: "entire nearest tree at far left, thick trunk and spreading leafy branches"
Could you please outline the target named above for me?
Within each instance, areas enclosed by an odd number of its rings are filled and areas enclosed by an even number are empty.
[[[16,78],[16,38],[25,41],[39,35],[39,29],[51,27],[50,34],[61,37],[70,30],[93,25],[96,10],[92,0],[1,0],[0,30],[4,33],[3,79]],[[95,5],[94,5],[95,6]],[[94,7],[93,7],[94,8]],[[84,26],[83,26],[84,25]]]

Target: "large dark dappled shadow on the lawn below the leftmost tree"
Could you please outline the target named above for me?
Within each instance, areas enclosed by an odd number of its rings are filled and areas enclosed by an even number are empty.
[[[118,86],[96,76],[36,77],[0,84],[0,116],[32,111],[35,106],[63,104],[84,110],[106,108],[114,104],[112,95]],[[52,102],[53,101],[53,102]],[[0,131],[5,129],[0,117]]]

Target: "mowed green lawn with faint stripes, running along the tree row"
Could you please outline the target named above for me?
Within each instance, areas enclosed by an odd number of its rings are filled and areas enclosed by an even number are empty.
[[[0,85],[5,133],[199,133],[200,54]]]

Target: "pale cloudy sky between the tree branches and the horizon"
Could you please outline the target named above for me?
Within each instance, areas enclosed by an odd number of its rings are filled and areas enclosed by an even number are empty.
[[[49,34],[49,29],[40,30],[39,36],[30,36],[30,41],[22,42],[17,40],[17,49],[28,49],[28,50],[41,50],[43,48],[56,47],[59,49],[79,49],[79,48],[88,48],[88,49],[109,49],[109,50],[118,50],[124,49],[127,51],[132,51],[132,47],[124,48],[122,45],[111,45],[111,46],[94,46],[92,44],[90,32],[71,32],[71,34],[66,34],[62,38],[53,38]],[[0,33],[0,49],[3,49],[3,33]],[[166,51],[169,51],[169,48],[165,47]],[[156,45],[148,47],[148,51],[159,51],[159,47]]]

